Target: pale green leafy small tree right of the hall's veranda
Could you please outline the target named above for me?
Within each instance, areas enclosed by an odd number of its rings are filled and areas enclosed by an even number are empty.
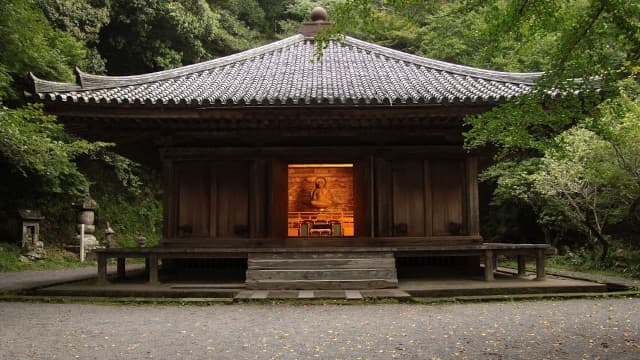
[[[556,137],[556,146],[531,175],[532,194],[524,198],[544,200],[542,221],[561,222],[595,238],[602,261],[609,248],[607,225],[638,220],[640,87],[625,83],[633,91],[605,101],[592,119],[600,134],[579,125]]]

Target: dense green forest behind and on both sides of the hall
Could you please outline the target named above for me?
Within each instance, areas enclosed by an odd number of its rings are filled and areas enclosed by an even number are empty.
[[[39,209],[44,241],[57,246],[90,194],[99,237],[106,221],[122,246],[161,232],[158,174],[65,132],[30,104],[29,72],[72,82],[76,66],[131,75],[188,65],[291,36],[316,5],[336,24],[319,44],[349,34],[458,64],[544,71],[527,96],[466,119],[465,146],[495,157],[481,176],[483,235],[548,242],[565,263],[640,275],[636,0],[0,0],[0,224]]]

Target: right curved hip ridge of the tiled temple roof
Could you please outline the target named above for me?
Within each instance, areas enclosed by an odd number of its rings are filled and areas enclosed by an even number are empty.
[[[515,73],[515,72],[503,72],[495,70],[486,70],[475,68],[471,66],[464,66],[453,64],[445,61],[434,60],[427,57],[410,54],[404,51],[390,49],[384,46],[376,45],[370,42],[359,40],[350,36],[345,36],[345,42],[347,44],[376,52],[387,57],[398,59],[401,61],[411,62],[420,66],[427,66],[437,70],[456,73],[459,75],[468,75],[479,78],[485,78],[489,80],[502,81],[502,82],[516,82],[521,84],[533,85],[544,73],[543,72],[530,72],[530,73]]]

